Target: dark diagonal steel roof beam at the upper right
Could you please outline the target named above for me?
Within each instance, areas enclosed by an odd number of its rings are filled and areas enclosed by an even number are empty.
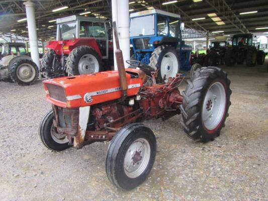
[[[234,14],[232,9],[228,6],[225,0],[204,0],[208,5],[214,8],[218,14],[225,16],[225,18],[242,33],[249,33],[249,30],[241,22],[241,20]]]

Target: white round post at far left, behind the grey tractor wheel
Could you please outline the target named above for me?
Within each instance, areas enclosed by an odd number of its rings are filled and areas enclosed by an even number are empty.
[[[36,32],[35,14],[34,14],[34,3],[32,3],[31,1],[27,1],[23,4],[25,5],[25,8],[26,8],[31,57],[40,70],[38,41],[37,41],[37,32]]]

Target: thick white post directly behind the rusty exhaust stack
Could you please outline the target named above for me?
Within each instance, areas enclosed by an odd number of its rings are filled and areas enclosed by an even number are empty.
[[[128,67],[126,60],[130,59],[130,43],[129,43],[129,2],[126,0],[112,0],[113,21],[116,22],[119,34],[119,45],[123,52],[125,67]],[[114,43],[114,50],[116,50]],[[115,70],[117,64],[114,54]]]

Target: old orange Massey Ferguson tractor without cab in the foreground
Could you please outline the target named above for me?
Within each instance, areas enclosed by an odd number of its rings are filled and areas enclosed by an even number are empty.
[[[115,22],[113,28],[118,71],[43,81],[52,110],[41,121],[39,135],[55,151],[112,140],[107,176],[115,186],[133,189],[146,179],[156,155],[155,136],[140,122],[182,114],[181,123],[190,138],[213,140],[228,117],[230,80],[220,68],[203,67],[187,80],[181,93],[178,86],[185,79],[181,74],[156,84],[156,70],[151,72],[149,86],[145,72],[150,66],[136,62],[139,69],[125,69]]]

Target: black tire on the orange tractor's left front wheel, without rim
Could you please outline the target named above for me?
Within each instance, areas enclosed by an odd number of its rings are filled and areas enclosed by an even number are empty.
[[[51,137],[51,126],[53,124],[53,110],[49,111],[42,119],[39,127],[39,136],[43,144],[53,151],[62,151],[70,147],[68,142],[65,144],[59,144]]]

